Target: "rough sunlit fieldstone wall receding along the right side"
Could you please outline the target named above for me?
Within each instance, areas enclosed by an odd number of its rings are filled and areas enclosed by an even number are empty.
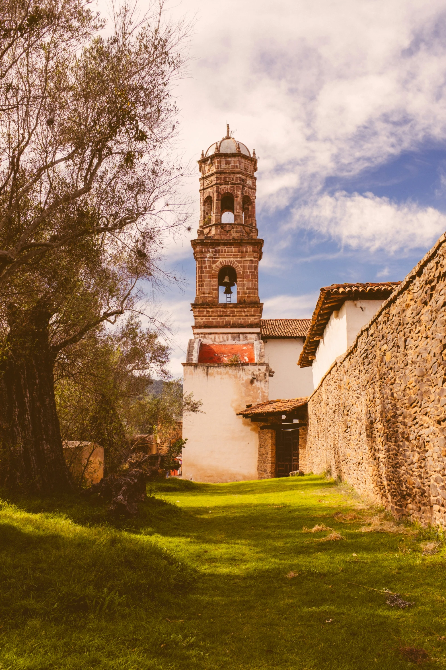
[[[446,525],[445,322],[443,235],[310,397],[306,472]]]

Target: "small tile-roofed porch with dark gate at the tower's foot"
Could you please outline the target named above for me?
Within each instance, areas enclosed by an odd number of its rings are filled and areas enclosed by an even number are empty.
[[[246,405],[237,416],[258,425],[259,479],[287,477],[296,470],[306,471],[307,398]]]

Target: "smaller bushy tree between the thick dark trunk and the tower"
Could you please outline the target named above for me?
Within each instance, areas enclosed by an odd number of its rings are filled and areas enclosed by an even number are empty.
[[[169,347],[129,316],[113,334],[103,327],[66,348],[55,364],[55,395],[64,440],[104,447],[106,474],[128,446],[129,407],[150,388],[152,375],[167,379]]]

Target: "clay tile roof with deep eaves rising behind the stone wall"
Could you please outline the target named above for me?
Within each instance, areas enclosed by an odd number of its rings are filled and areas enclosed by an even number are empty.
[[[320,289],[298,365],[301,368],[310,367],[330,316],[336,310],[340,310],[346,300],[386,300],[400,283],[400,281],[377,281],[364,284],[332,284]]]

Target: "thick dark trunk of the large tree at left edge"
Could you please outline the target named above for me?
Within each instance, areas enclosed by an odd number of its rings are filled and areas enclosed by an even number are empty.
[[[73,488],[55,409],[49,310],[9,306],[0,360],[0,485],[49,494]]]

